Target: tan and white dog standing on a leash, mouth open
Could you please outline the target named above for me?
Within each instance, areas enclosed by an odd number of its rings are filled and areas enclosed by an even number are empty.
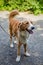
[[[23,44],[24,46],[24,55],[30,56],[27,51],[27,39],[29,34],[33,33],[33,23],[31,21],[18,20],[15,18],[16,15],[19,15],[18,10],[13,10],[9,14],[9,31],[10,31],[10,47],[13,47],[12,37],[16,37],[17,40],[17,58],[16,61],[20,61],[20,47]]]

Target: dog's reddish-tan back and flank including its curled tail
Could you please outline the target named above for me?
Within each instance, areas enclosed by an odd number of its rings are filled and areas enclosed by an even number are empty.
[[[18,10],[13,10],[9,15],[9,30],[11,36],[13,35],[13,33],[16,34],[18,30],[19,20],[14,19],[14,17],[18,14]]]

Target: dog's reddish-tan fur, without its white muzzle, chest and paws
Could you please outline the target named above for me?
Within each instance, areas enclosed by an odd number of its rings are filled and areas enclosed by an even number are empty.
[[[17,10],[13,10],[10,15],[9,15],[9,30],[10,30],[10,44],[12,44],[12,36],[15,35],[18,37],[18,31],[19,31],[19,25],[20,25],[20,21],[15,19],[14,16],[15,15],[19,15],[19,12]],[[22,23],[22,25],[20,26],[20,31],[21,30],[25,30],[29,25],[29,22],[25,21]],[[17,49],[17,54],[20,55],[20,47],[21,47],[22,43],[19,41],[18,43],[18,49]],[[24,51],[26,52],[26,44],[24,44]]]

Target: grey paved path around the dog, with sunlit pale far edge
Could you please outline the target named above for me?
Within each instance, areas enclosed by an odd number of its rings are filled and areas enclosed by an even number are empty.
[[[5,14],[4,14],[5,15]],[[2,17],[1,17],[2,16]],[[34,33],[28,39],[28,50],[30,57],[23,55],[23,46],[21,47],[21,61],[16,62],[17,47],[10,48],[9,35],[0,28],[0,65],[43,65],[43,15],[27,15],[25,17],[36,21]],[[8,17],[0,15],[0,24],[8,32]]]

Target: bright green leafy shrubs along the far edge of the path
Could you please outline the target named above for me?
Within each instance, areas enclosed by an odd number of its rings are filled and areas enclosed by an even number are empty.
[[[43,0],[0,0],[0,10],[13,9],[39,14],[43,12]]]

